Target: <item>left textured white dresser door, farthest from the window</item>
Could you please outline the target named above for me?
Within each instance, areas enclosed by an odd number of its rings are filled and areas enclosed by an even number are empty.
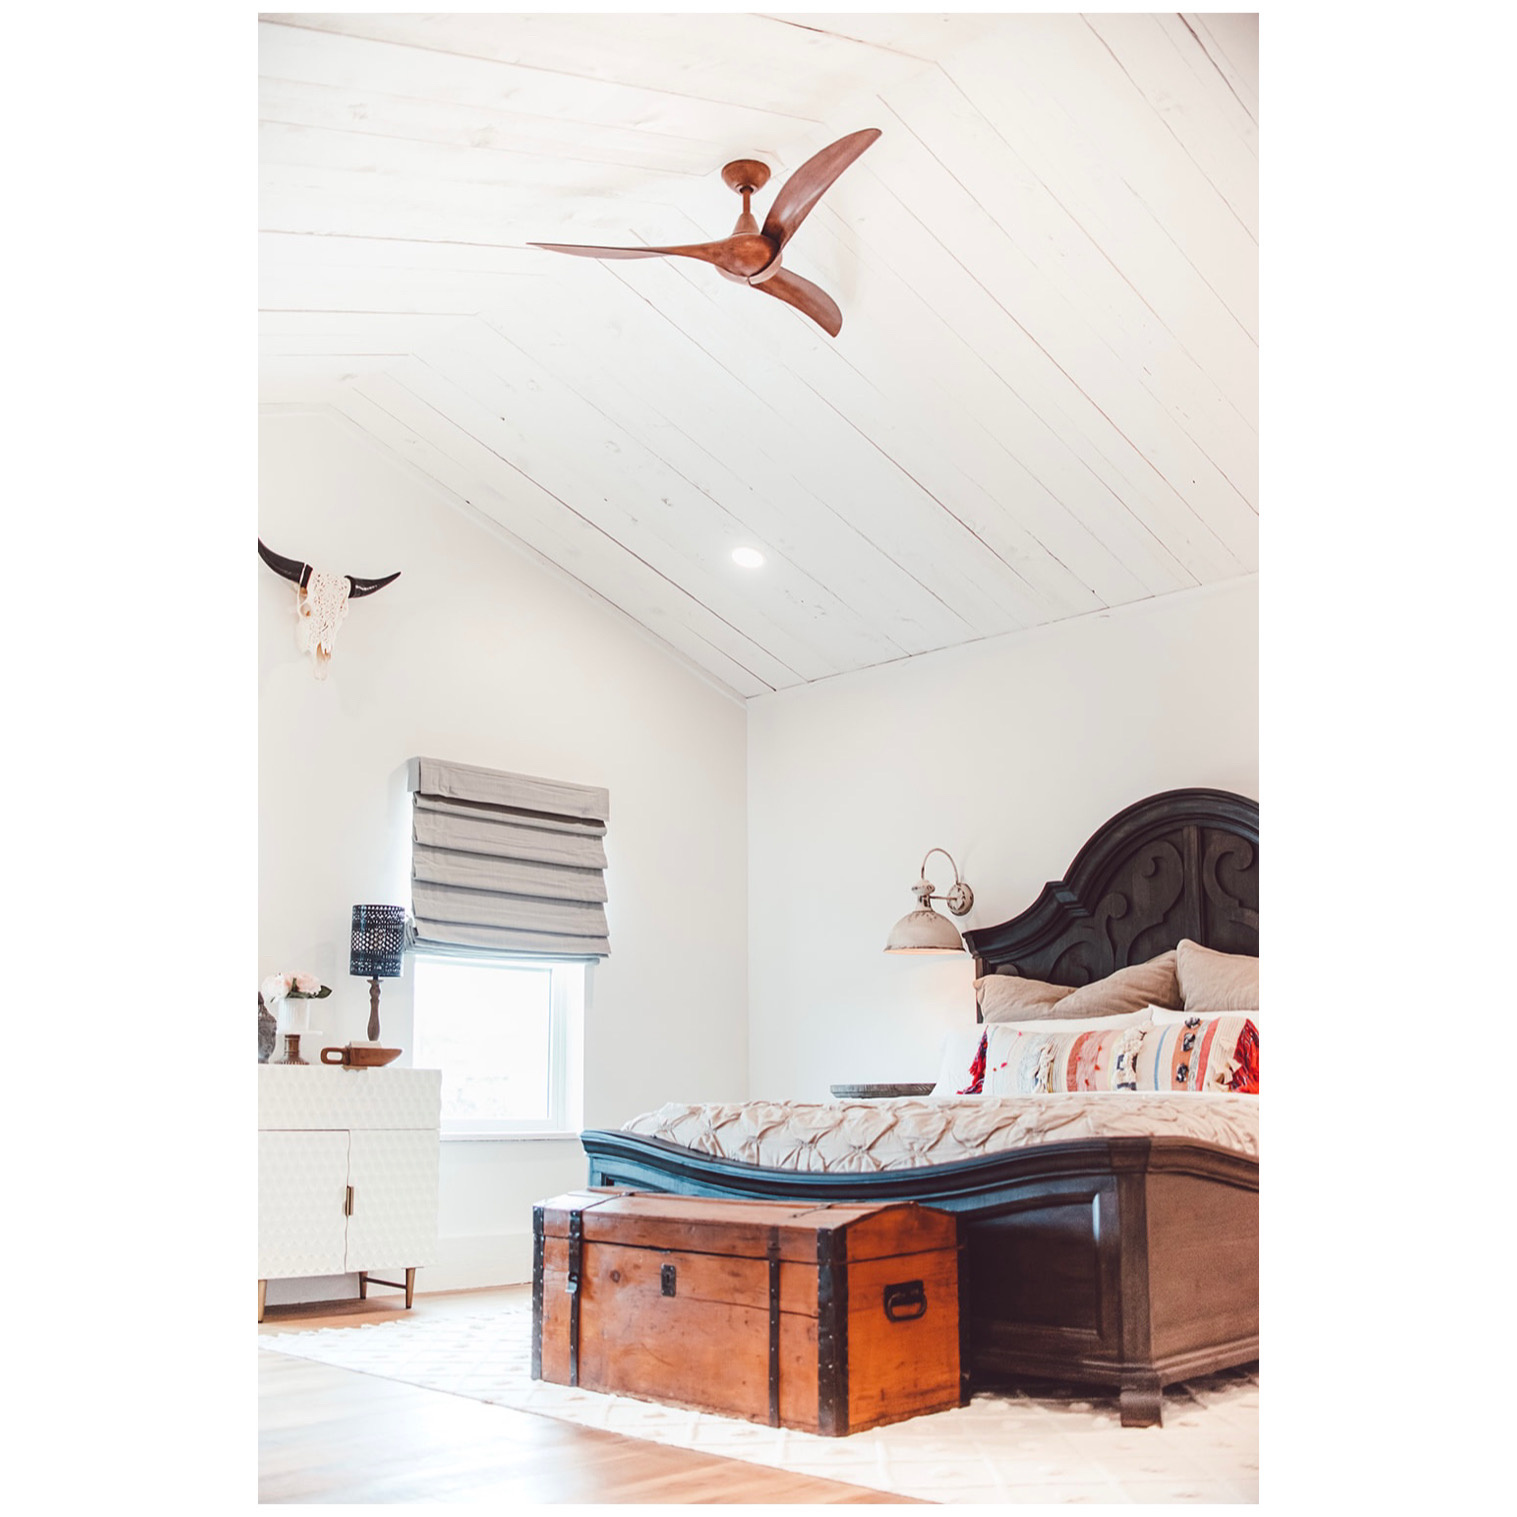
[[[258,1277],[341,1274],[346,1197],[346,1132],[261,1132]]]

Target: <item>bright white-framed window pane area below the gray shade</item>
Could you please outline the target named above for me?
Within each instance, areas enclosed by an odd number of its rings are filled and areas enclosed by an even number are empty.
[[[578,1132],[584,965],[416,956],[416,1065],[444,1138]]]

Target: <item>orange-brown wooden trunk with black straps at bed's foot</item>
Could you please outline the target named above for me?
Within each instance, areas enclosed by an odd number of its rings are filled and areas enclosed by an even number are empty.
[[[947,1212],[586,1189],[532,1232],[534,1379],[831,1435],[965,1399]]]

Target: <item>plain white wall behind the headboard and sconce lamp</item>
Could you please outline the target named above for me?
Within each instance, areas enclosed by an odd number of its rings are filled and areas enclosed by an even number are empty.
[[[928,848],[988,927],[1132,801],[1258,796],[1258,613],[1250,576],[749,701],[749,1094],[933,1079],[972,960],[883,953]]]

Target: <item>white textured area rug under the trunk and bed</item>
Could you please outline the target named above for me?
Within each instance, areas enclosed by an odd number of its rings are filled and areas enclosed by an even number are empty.
[[[1110,1399],[978,1393],[968,1406],[821,1438],[531,1377],[529,1306],[414,1323],[265,1333],[259,1349],[751,1464],[931,1502],[1258,1502],[1259,1379],[1174,1385],[1162,1427]]]

